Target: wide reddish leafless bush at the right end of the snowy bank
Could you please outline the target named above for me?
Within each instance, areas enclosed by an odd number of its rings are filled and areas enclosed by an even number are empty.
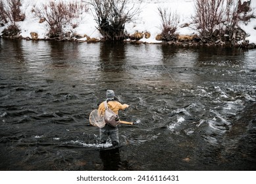
[[[244,18],[238,5],[234,0],[195,0],[193,20],[203,41],[223,39],[225,34],[231,35],[236,30]]]

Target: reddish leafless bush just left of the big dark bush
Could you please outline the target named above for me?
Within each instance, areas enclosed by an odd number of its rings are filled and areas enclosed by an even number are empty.
[[[41,8],[34,8],[34,13],[38,18],[44,18],[49,28],[49,37],[62,37],[64,28],[74,29],[78,26],[76,22],[82,12],[88,11],[84,3],[78,1],[64,3],[50,1]]]

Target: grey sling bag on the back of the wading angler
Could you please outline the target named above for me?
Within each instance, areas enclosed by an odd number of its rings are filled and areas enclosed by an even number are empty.
[[[108,106],[107,101],[104,101],[105,105],[105,114],[104,114],[104,122],[110,126],[116,127],[118,126],[120,120],[119,116],[113,112]]]

